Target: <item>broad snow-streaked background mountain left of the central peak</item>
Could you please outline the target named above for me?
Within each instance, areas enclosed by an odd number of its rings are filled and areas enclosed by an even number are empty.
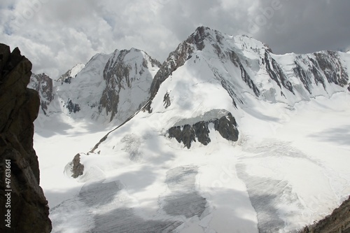
[[[112,120],[118,125],[139,111],[160,63],[132,48],[97,54],[85,66],[77,65],[55,83],[56,106],[72,118]]]

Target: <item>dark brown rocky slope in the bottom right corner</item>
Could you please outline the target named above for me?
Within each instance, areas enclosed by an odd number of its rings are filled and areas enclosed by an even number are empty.
[[[350,232],[350,197],[315,225],[304,227],[300,233],[349,233]]]

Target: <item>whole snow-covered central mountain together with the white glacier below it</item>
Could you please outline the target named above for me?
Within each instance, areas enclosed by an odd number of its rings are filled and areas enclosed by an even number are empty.
[[[323,218],[350,192],[349,66],[346,53],[274,55],[198,28],[116,129],[36,122],[53,232],[289,232]]]

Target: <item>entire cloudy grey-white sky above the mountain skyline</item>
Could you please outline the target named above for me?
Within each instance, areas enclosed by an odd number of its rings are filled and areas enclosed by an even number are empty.
[[[140,48],[162,62],[201,25],[275,53],[350,49],[349,0],[1,0],[0,43],[52,78],[97,52]]]

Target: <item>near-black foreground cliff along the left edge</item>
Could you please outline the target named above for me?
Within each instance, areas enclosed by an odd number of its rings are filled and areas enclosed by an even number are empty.
[[[2,223],[1,232],[50,232],[52,229],[48,202],[39,186],[38,158],[33,148],[33,122],[40,100],[35,90],[27,88],[30,76],[31,62],[20,55],[20,50],[15,48],[11,53],[7,45],[0,44],[1,178],[5,178],[6,172],[3,163],[10,161],[10,183],[0,183],[1,204],[9,201],[5,190],[12,190],[8,208],[10,228]]]

